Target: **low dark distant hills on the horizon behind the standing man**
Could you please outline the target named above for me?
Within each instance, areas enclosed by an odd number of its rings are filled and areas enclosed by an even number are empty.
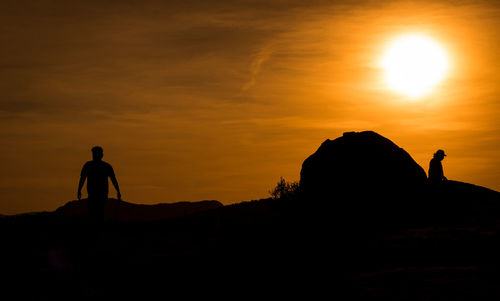
[[[105,208],[105,218],[117,221],[154,221],[178,218],[200,211],[223,206],[218,201],[177,202],[171,204],[143,205],[117,199],[109,199]],[[66,203],[54,212],[58,216],[84,217],[88,214],[88,200],[76,200]]]

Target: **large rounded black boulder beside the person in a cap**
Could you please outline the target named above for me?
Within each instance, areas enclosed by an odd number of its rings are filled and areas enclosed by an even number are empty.
[[[426,180],[425,171],[404,149],[372,131],[326,140],[300,172],[303,192],[327,198],[407,189]]]

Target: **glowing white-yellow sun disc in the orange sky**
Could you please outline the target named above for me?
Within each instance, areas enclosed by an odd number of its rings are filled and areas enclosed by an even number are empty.
[[[381,60],[385,82],[411,98],[433,90],[445,77],[448,55],[441,45],[423,35],[404,35],[389,44]]]

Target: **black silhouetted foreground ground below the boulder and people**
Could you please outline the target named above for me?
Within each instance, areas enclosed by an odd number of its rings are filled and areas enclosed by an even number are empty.
[[[297,197],[156,222],[0,219],[16,300],[500,297],[500,196],[481,187]],[[12,299],[12,298],[10,298]]]

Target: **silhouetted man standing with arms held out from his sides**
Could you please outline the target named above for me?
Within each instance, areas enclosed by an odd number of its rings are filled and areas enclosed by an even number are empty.
[[[92,148],[92,161],[83,165],[78,183],[78,199],[81,199],[82,187],[87,179],[89,217],[98,223],[104,221],[104,208],[108,200],[108,178],[116,189],[118,200],[121,200],[115,172],[109,163],[102,161],[103,155],[102,147]]]

